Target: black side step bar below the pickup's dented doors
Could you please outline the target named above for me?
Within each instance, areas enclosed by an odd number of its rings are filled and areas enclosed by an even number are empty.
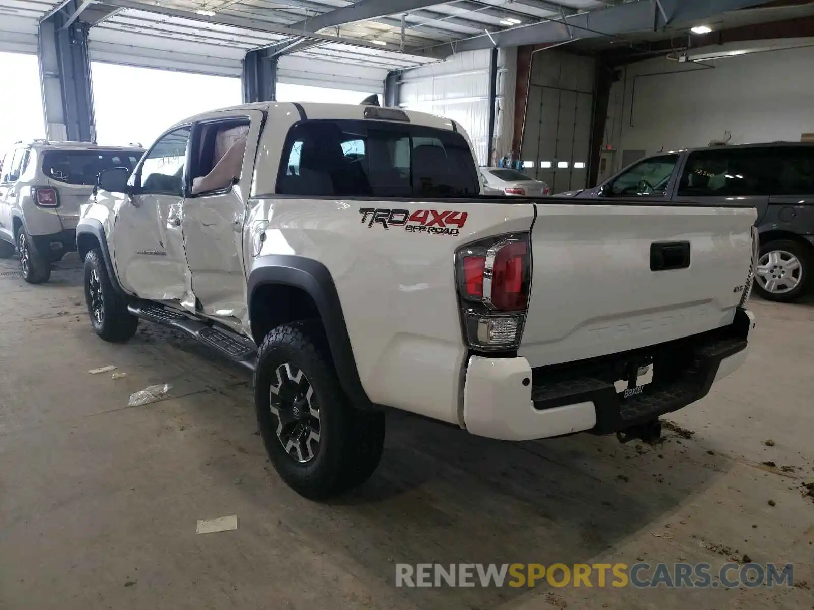
[[[181,330],[250,371],[256,368],[257,350],[254,344],[237,333],[217,328],[208,320],[201,320],[191,314],[178,312],[171,307],[163,307],[150,301],[130,303],[127,311],[142,320]]]

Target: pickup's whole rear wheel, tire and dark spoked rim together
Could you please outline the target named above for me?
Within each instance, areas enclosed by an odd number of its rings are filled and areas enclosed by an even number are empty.
[[[361,485],[379,465],[384,414],[351,406],[317,322],[272,330],[254,380],[257,423],[283,481],[309,499]]]

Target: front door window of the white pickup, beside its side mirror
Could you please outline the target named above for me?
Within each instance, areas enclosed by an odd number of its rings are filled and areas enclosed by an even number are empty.
[[[184,194],[184,167],[190,128],[164,134],[144,157],[138,172],[138,194]]]

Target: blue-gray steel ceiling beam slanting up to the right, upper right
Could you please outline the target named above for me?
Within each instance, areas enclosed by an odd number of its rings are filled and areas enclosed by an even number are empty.
[[[571,15],[565,19],[544,20],[518,28],[498,30],[490,35],[453,41],[451,45],[431,46],[427,50],[433,56],[439,53],[449,56],[466,50],[489,49],[492,46],[561,44],[580,38],[659,30],[667,24],[700,20],[726,11],[754,7],[760,3],[760,0],[660,0],[659,7],[655,0],[639,0]]]

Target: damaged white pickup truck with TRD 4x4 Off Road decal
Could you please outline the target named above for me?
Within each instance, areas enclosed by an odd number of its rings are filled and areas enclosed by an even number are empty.
[[[252,369],[269,458],[313,499],[374,472],[386,407],[506,440],[653,438],[746,358],[754,208],[481,188],[432,115],[192,117],[82,208],[91,323],[172,325]]]

